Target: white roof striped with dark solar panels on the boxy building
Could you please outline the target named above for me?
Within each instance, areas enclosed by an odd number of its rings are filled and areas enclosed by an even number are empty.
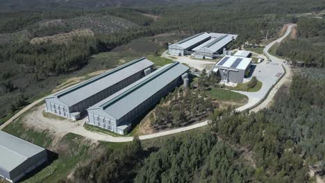
[[[233,69],[247,69],[249,64],[251,63],[251,58],[242,58],[242,57],[237,57],[237,56],[225,56],[215,64],[216,66],[219,67],[229,67]]]

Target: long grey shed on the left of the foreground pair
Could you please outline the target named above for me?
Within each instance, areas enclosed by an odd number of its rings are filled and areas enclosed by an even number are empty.
[[[153,62],[146,58],[133,60],[120,67],[102,73],[63,91],[45,98],[46,112],[77,120],[88,107],[131,85],[150,73]]]

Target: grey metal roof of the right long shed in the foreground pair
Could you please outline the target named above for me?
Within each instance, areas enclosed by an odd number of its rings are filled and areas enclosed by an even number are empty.
[[[179,62],[167,64],[103,101],[93,105],[88,108],[88,111],[102,110],[110,116],[113,116],[115,119],[120,119],[188,70],[188,67]]]

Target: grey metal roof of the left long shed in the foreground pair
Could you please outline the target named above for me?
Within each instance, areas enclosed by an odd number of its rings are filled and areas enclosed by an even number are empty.
[[[99,76],[81,82],[77,85],[65,89],[63,92],[57,92],[52,94],[47,98],[56,97],[68,106],[75,105],[83,101],[85,98],[89,98],[94,94],[101,92],[103,89],[114,85],[115,83],[132,76],[133,74],[151,67],[153,62],[147,60],[146,58],[140,58],[138,60],[133,60],[120,67],[102,73]]]

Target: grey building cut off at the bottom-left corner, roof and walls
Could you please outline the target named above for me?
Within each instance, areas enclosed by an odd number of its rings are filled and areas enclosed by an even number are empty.
[[[44,148],[0,131],[0,177],[17,182],[44,162],[47,162]]]

